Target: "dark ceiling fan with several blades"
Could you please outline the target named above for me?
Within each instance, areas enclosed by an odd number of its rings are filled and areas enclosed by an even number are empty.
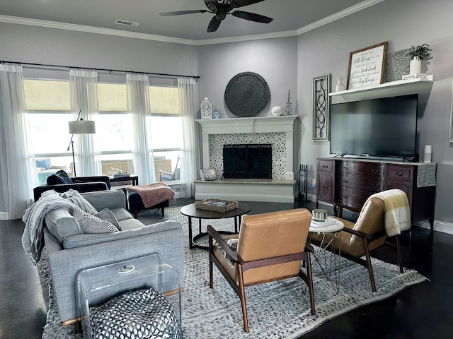
[[[270,23],[273,18],[267,16],[262,16],[256,13],[250,13],[246,11],[234,11],[231,12],[234,8],[239,8],[243,6],[257,4],[264,0],[205,0],[205,5],[209,9],[195,9],[192,11],[178,11],[178,12],[165,12],[160,13],[161,16],[181,16],[183,14],[193,14],[193,13],[212,13],[215,14],[214,18],[211,19],[210,24],[207,26],[207,32],[215,32],[219,28],[222,20],[226,18],[227,14],[236,16],[236,18],[246,19],[250,21],[255,21],[256,23]]]

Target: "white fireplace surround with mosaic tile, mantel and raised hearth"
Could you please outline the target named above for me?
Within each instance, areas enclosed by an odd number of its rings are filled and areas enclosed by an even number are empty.
[[[217,180],[195,181],[195,198],[236,201],[294,201],[294,121],[296,115],[197,120],[202,127],[202,167],[214,167]],[[272,180],[221,179],[225,144],[272,144]]]

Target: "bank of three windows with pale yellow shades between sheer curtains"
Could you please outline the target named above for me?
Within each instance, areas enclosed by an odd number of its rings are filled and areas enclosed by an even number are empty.
[[[101,76],[103,80],[108,76]],[[113,175],[118,170],[133,173],[132,117],[127,114],[127,89],[116,76],[114,82],[98,83],[99,114],[95,140],[101,145],[102,172]],[[68,80],[28,78],[24,80],[28,127],[34,160],[46,160],[49,169],[36,168],[37,184],[46,176],[64,169],[69,175],[72,156],[69,148],[68,122],[71,114],[71,94]],[[178,88],[171,85],[150,85],[151,154],[154,157],[156,181],[161,172],[172,173],[183,145]],[[74,144],[75,153],[76,145]],[[76,160],[77,161],[77,160]],[[42,164],[42,162],[39,162]],[[159,170],[161,172],[159,172]],[[168,177],[166,177],[168,179]]]

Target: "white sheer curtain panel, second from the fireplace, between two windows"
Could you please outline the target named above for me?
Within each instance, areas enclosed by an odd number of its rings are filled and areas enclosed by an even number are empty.
[[[148,76],[142,74],[126,74],[127,112],[132,114],[132,135],[134,148],[132,160],[134,172],[142,185],[156,182],[154,162],[151,161],[151,109],[149,107]]]

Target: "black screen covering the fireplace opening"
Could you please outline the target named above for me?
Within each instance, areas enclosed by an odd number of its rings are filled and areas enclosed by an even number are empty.
[[[270,143],[224,145],[224,178],[272,179]]]

